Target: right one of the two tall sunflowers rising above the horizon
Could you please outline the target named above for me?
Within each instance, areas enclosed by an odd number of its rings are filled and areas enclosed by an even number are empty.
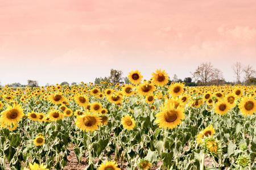
[[[155,83],[157,86],[164,86],[168,83],[168,73],[166,73],[164,70],[155,70],[156,73],[152,73],[152,82]]]

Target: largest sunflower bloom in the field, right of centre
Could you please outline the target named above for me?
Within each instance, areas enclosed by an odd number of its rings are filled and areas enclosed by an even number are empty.
[[[174,129],[177,125],[181,124],[181,120],[185,118],[184,116],[184,108],[177,107],[175,109],[175,105],[171,105],[167,110],[165,108],[160,108],[163,112],[159,112],[155,115],[157,119],[155,120],[156,124],[158,124],[159,128],[169,128]]]

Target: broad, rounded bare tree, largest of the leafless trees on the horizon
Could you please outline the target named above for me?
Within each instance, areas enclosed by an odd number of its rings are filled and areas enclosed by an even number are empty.
[[[200,80],[202,86],[207,86],[209,80],[213,76],[213,65],[210,62],[203,62],[200,66],[197,67],[196,71],[194,73],[191,73],[193,75],[193,78],[197,80]]]

